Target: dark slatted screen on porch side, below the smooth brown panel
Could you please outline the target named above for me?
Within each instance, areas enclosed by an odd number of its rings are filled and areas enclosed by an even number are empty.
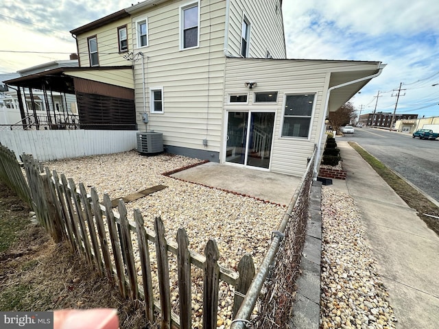
[[[80,128],[93,130],[136,130],[133,99],[76,92]]]

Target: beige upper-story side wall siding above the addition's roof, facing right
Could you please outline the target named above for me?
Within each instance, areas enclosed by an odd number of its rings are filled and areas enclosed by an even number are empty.
[[[278,5],[277,12],[276,5]],[[241,29],[244,14],[250,21],[248,57],[265,58],[268,50],[273,58],[286,58],[279,0],[230,0],[227,50],[232,56],[241,57]]]

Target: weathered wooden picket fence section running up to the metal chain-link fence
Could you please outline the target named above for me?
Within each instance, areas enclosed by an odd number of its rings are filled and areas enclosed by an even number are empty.
[[[95,188],[91,188],[88,195],[84,184],[77,187],[64,174],[40,168],[32,156],[23,154],[22,158],[38,221],[55,241],[67,241],[72,252],[78,252],[102,276],[117,284],[123,297],[133,302],[143,300],[145,316],[152,323],[161,321],[161,328],[192,328],[191,266],[203,270],[203,328],[217,328],[219,280],[234,287],[233,312],[237,312],[254,276],[250,255],[241,259],[237,271],[226,269],[217,263],[219,251],[214,239],[206,244],[204,256],[196,254],[188,248],[184,228],[178,230],[176,242],[167,241],[160,217],[154,221],[154,231],[149,230],[143,225],[138,209],[134,210],[134,222],[128,221],[122,199],[118,212],[113,212],[107,194],[101,202]],[[131,234],[138,243],[141,282],[137,278]],[[148,241],[155,245],[158,301],[153,296]],[[171,308],[169,253],[177,256],[179,315]]]

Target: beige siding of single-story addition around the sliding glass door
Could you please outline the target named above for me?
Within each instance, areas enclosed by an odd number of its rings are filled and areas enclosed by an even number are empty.
[[[329,84],[330,68],[323,62],[233,58],[226,60],[225,110],[276,111],[270,171],[299,176],[305,171],[307,158],[312,155],[314,144],[319,138],[318,125],[321,125],[324,116],[324,90]],[[257,82],[257,87],[249,90],[244,86],[244,82],[248,81]],[[249,91],[248,105],[227,104],[228,94]],[[254,92],[264,91],[277,91],[277,102],[254,103]],[[295,93],[316,94],[309,139],[281,137],[285,94]]]

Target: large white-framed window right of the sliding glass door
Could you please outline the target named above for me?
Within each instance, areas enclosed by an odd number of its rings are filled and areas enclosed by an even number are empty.
[[[315,96],[314,94],[285,95],[282,137],[308,138]]]

